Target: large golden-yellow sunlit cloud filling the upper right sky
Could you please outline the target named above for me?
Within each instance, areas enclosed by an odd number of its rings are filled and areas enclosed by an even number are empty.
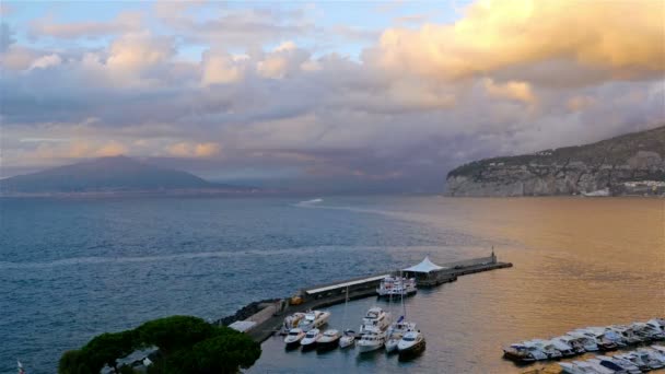
[[[649,79],[665,69],[664,7],[651,0],[479,1],[454,24],[385,31],[373,58],[388,70],[442,80],[553,60],[597,69],[605,80]],[[520,71],[510,80],[521,80]]]

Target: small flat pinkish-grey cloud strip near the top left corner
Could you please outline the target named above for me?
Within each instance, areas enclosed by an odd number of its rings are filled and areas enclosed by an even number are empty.
[[[140,28],[140,13],[122,12],[107,22],[58,23],[52,17],[38,19],[30,23],[28,34],[33,37],[47,36],[62,39],[98,38],[107,35],[138,32]]]

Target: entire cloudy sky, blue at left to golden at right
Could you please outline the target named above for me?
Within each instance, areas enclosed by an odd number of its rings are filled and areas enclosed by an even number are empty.
[[[0,3],[0,177],[125,154],[302,191],[440,191],[665,122],[665,2]]]

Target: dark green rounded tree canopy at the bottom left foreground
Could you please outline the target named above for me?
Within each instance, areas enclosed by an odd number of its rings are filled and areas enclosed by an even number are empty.
[[[198,317],[172,316],[96,336],[81,349],[65,352],[58,373],[98,373],[106,365],[116,373],[127,372],[126,365],[118,369],[118,360],[150,347],[160,353],[149,367],[151,374],[236,373],[261,354],[260,344],[242,332]]]

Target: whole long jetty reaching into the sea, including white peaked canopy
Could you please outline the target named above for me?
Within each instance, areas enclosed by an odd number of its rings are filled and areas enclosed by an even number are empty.
[[[347,288],[349,300],[358,300],[376,296],[376,288],[381,280],[387,276],[401,273],[405,277],[416,278],[418,287],[423,288],[454,282],[457,277],[466,274],[512,266],[511,262],[498,261],[493,250],[488,257],[443,265],[435,265],[429,257],[425,257],[420,264],[410,268],[303,288],[291,299],[260,304],[258,313],[244,320],[236,320],[229,327],[247,334],[255,341],[262,342],[279,330],[284,316],[289,314],[343,303],[347,297]],[[222,324],[222,319],[219,319],[217,324]]]

